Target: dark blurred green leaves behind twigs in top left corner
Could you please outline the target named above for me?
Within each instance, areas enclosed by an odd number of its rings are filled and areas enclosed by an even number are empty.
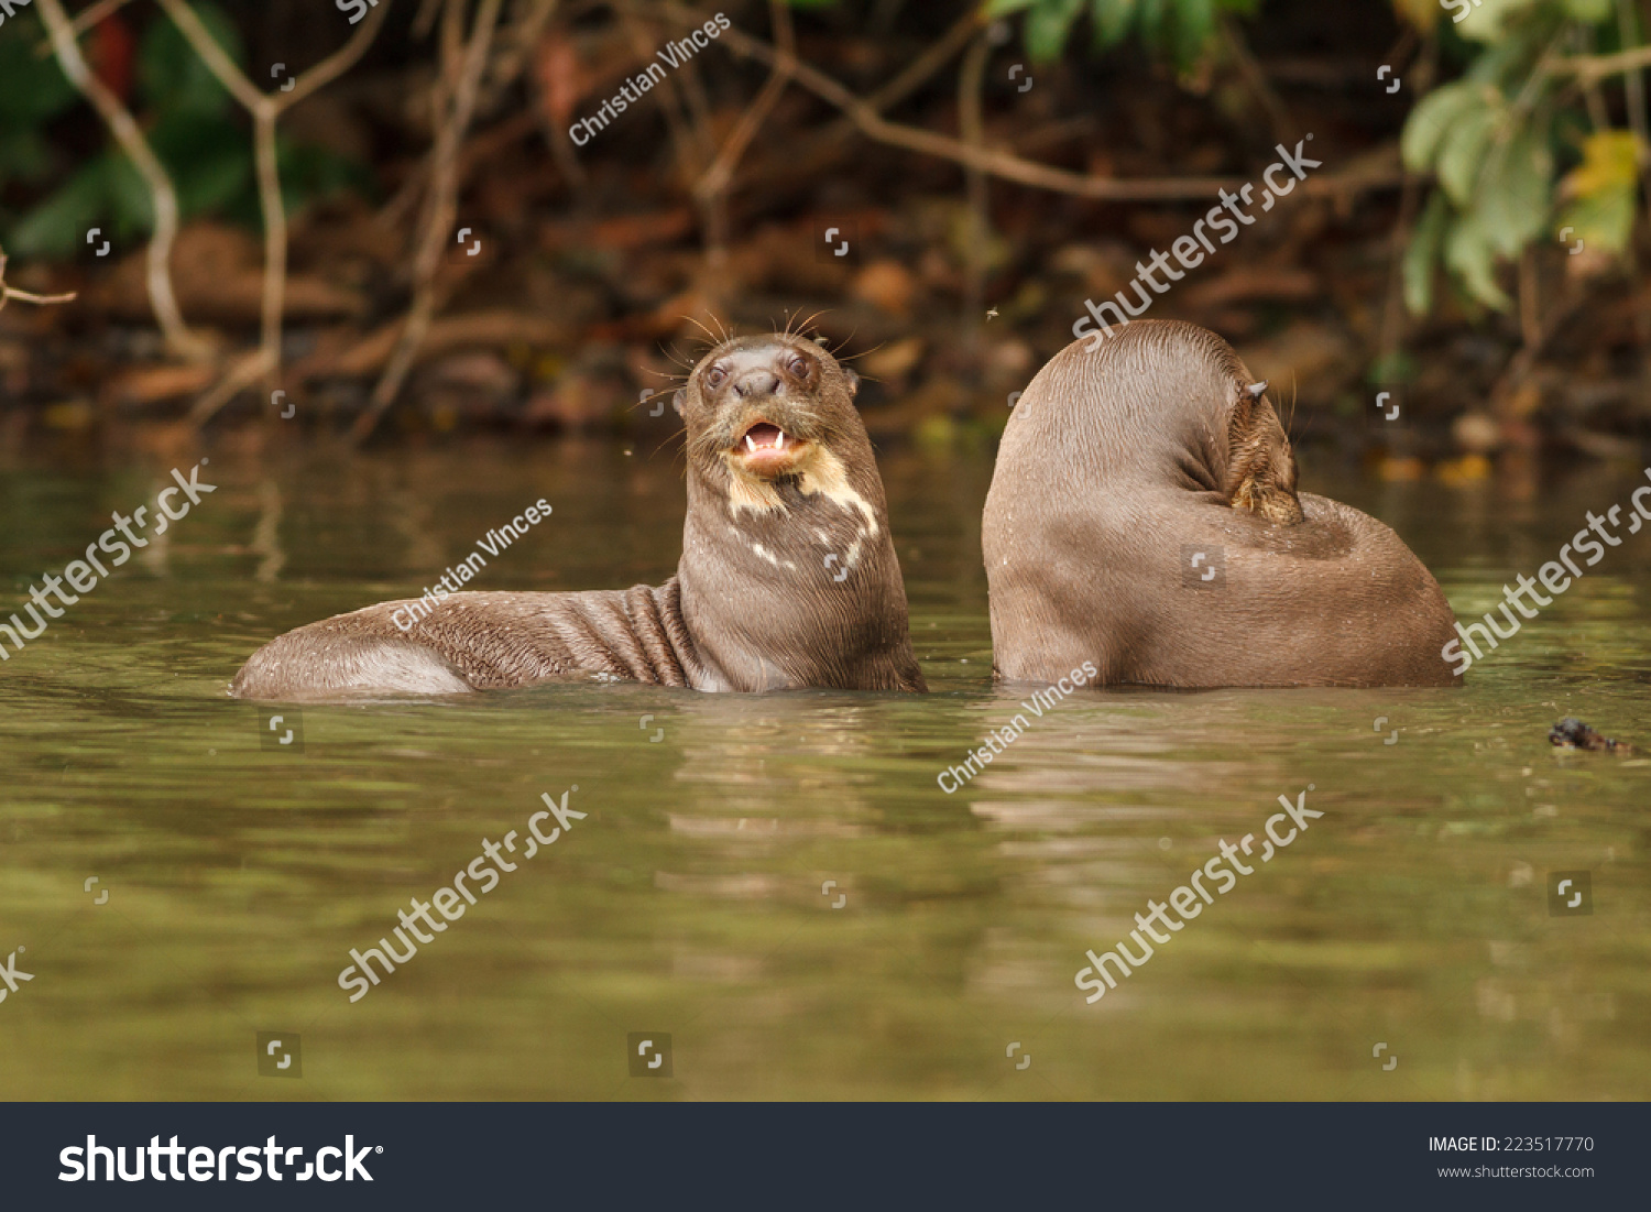
[[[229,58],[244,64],[241,38],[223,10],[211,3],[195,3],[195,10]],[[13,21],[17,18],[7,21],[7,35]],[[8,182],[38,185],[53,177],[58,165],[46,125],[78,99],[56,59],[33,53],[45,36],[38,18],[28,15],[18,25],[15,36],[0,41],[0,188]],[[253,147],[244,116],[178,28],[160,15],[149,23],[139,45],[132,109],[172,177],[183,218],[225,215],[256,221]],[[286,140],[277,142],[277,167],[289,208],[343,185],[365,183],[360,165]],[[129,238],[152,225],[149,190],[111,140],[17,220],[5,244],[18,254],[68,258],[79,251],[94,226]]]

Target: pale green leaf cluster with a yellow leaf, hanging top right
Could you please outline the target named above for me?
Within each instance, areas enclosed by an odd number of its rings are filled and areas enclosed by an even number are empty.
[[[1506,310],[1499,266],[1550,234],[1621,253],[1638,200],[1638,140],[1588,132],[1573,78],[1555,64],[1582,31],[1616,45],[1610,3],[1453,0],[1450,10],[1461,20],[1438,28],[1471,61],[1417,104],[1400,142],[1405,167],[1436,180],[1403,263],[1415,314],[1431,307],[1440,267],[1471,302]],[[1577,167],[1562,177],[1567,162]]]

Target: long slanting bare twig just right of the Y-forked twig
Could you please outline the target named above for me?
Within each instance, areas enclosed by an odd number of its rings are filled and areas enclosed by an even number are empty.
[[[401,329],[395,353],[391,353],[390,365],[373,390],[373,398],[367,411],[350,428],[352,443],[365,441],[378,426],[378,419],[390,405],[395,403],[403,380],[406,380],[408,372],[413,368],[413,358],[418,355],[419,343],[423,343],[424,334],[429,330],[429,320],[436,309],[436,271],[441,267],[441,254],[447,246],[447,231],[452,226],[457,206],[459,147],[464,144],[471,116],[475,111],[475,92],[480,88],[482,69],[487,66],[494,26],[499,23],[500,3],[502,0],[480,2],[475,21],[471,26],[469,46],[454,46],[447,36],[442,38],[442,73],[438,78],[438,96],[434,97],[439,104],[433,109],[436,122],[436,160],[431,172],[431,193],[424,208],[424,228],[414,261],[413,307],[408,310],[406,325]],[[459,21],[462,21],[461,0],[447,0],[447,13],[449,21],[444,23],[444,35],[454,28],[462,35],[462,26],[459,26]],[[454,74],[457,74],[454,88],[444,88],[441,81],[452,79]]]

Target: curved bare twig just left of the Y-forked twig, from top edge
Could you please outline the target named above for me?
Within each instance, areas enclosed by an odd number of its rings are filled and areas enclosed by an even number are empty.
[[[178,236],[178,195],[172,188],[172,178],[149,147],[144,132],[137,129],[132,114],[121,104],[107,84],[92,74],[74,40],[74,26],[63,12],[61,0],[40,0],[40,18],[51,35],[51,50],[58,58],[58,66],[68,81],[81,91],[109,127],[109,134],[127,154],[144,183],[155,208],[155,230],[149,238],[149,304],[155,312],[155,322],[165,335],[173,353],[190,362],[206,362],[213,357],[213,347],[190,332],[178,310],[177,294],[172,291],[172,241]]]

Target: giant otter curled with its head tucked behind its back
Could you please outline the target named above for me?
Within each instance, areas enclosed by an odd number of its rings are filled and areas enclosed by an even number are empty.
[[[1057,353],[1009,418],[982,548],[999,677],[1450,685],[1455,616],[1375,518],[1296,492],[1289,439],[1232,347],[1138,320]]]

